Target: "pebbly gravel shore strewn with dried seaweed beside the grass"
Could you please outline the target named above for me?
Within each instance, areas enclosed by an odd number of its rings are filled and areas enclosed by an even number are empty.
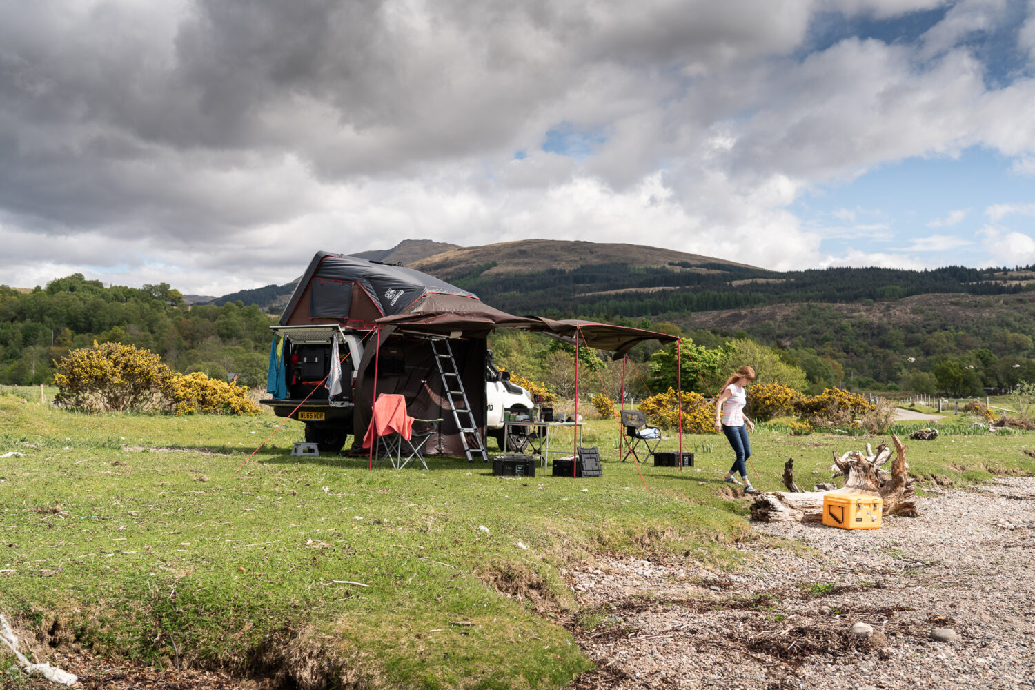
[[[880,530],[755,523],[805,547],[743,544],[736,573],[630,560],[567,573],[595,613],[578,635],[598,669],[575,688],[1035,687],[1035,478],[917,505]]]

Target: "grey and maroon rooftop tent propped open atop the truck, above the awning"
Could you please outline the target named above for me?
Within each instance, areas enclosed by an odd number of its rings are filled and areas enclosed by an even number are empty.
[[[492,307],[477,296],[426,273],[318,251],[280,314],[280,325],[345,322],[343,325],[350,328],[368,329],[382,317],[410,311],[478,309]]]

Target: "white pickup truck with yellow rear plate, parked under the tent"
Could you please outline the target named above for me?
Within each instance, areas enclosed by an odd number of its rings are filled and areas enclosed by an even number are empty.
[[[278,417],[296,419],[305,424],[305,441],[315,443],[321,452],[337,452],[354,432],[353,390],[356,381],[354,364],[361,361],[361,338],[338,326],[274,326],[284,338],[283,353],[287,367],[287,397],[261,400]],[[323,382],[330,367],[331,344],[338,340],[342,364],[342,395],[329,399]],[[382,350],[384,354],[384,350]],[[306,399],[307,397],[307,399]],[[302,400],[305,402],[302,402]],[[301,406],[299,407],[299,403]],[[503,448],[504,412],[528,414],[533,407],[531,394],[510,383],[510,373],[500,371],[493,363],[492,351],[485,358],[485,432]],[[296,408],[298,408],[296,410]],[[448,414],[448,413],[446,413]]]

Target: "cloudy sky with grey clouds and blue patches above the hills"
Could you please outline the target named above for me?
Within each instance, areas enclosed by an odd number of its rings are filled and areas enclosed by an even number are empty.
[[[1035,0],[10,0],[0,283],[540,237],[1035,262]]]

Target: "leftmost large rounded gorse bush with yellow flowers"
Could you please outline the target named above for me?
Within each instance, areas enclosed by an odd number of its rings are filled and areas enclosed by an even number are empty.
[[[119,342],[93,342],[57,365],[54,401],[87,411],[141,411],[160,401],[172,372],[158,355]]]

